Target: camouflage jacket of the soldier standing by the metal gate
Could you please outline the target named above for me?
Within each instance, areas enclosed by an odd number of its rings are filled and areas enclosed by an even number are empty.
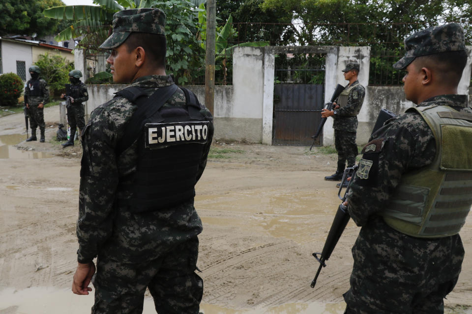
[[[356,80],[352,85],[358,83]],[[351,85],[347,85],[344,89],[349,88]],[[364,102],[365,88],[362,85],[355,86],[348,96],[348,104],[342,108],[336,109],[336,114],[333,115],[333,129],[355,132],[357,131],[357,113],[362,107]],[[336,103],[337,103],[336,99]]]

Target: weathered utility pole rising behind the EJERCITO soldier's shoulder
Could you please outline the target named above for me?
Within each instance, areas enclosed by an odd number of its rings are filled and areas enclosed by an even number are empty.
[[[207,0],[207,53],[205,57],[205,106],[214,115],[216,2]]]

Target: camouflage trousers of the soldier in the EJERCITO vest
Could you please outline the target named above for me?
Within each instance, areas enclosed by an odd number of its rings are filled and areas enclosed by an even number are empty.
[[[195,273],[198,238],[179,244],[159,259],[127,264],[98,256],[92,278],[92,314],[141,314],[149,289],[157,313],[198,314],[203,280]]]

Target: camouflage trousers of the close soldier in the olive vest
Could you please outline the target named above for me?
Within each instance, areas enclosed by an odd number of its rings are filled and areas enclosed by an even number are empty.
[[[442,314],[464,259],[459,235],[412,237],[378,216],[362,227],[352,252],[347,314]]]

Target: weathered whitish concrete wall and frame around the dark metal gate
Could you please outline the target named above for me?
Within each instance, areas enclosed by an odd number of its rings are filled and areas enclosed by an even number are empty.
[[[471,95],[472,47],[459,86],[459,93]],[[370,47],[239,47],[234,53],[233,86],[215,86],[215,139],[272,144],[274,60],[277,53],[325,53],[324,100],[328,102],[336,84],[346,85],[341,70],[352,61],[360,63],[359,81],[366,87],[364,104],[358,115],[357,144],[368,141],[380,109],[402,113],[413,103],[405,99],[403,86],[369,86]],[[75,67],[84,75],[85,57],[75,52]],[[335,75],[333,75],[335,74]],[[86,78],[84,78],[85,80]],[[112,99],[126,85],[89,85],[87,115],[96,106]],[[205,86],[186,86],[205,101]],[[332,119],[324,125],[324,145],[333,145]]]

